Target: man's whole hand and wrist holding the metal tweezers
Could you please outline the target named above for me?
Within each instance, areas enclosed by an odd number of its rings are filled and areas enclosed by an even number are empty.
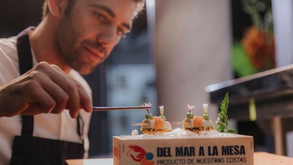
[[[92,103],[82,85],[56,65],[40,62],[0,87],[0,117],[60,114],[63,109],[68,109],[70,116],[76,118],[79,109],[92,111]]]

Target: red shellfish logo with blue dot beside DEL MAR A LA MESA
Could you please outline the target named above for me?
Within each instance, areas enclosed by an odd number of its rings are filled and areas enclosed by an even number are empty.
[[[135,154],[137,154],[136,156],[134,156],[133,154],[130,153],[130,157],[135,161],[135,162],[140,162],[141,165],[154,165],[155,162],[152,161],[153,159],[153,154],[150,152],[147,152],[144,150],[144,148],[138,146],[138,145],[129,145],[129,150],[127,152],[126,155],[129,154],[129,152],[132,151],[135,152]]]

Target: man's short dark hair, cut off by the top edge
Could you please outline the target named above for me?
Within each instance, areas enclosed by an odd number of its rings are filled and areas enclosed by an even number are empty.
[[[68,0],[68,4],[65,9],[66,15],[69,15],[71,13],[71,10],[72,10],[72,7],[73,7],[75,1],[76,0]],[[144,9],[146,0],[134,0],[134,1],[136,3],[135,15],[137,15],[138,13],[140,13]],[[50,12],[47,0],[44,1],[42,9],[43,9],[42,18],[44,18]]]

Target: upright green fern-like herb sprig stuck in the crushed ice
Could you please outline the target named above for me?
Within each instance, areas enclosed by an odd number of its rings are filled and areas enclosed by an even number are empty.
[[[225,95],[224,100],[221,103],[219,112],[218,120],[216,121],[216,124],[219,125],[217,128],[217,131],[219,132],[225,132],[225,133],[236,133],[237,131],[235,129],[228,129],[228,103],[229,103],[229,95],[228,93]]]

